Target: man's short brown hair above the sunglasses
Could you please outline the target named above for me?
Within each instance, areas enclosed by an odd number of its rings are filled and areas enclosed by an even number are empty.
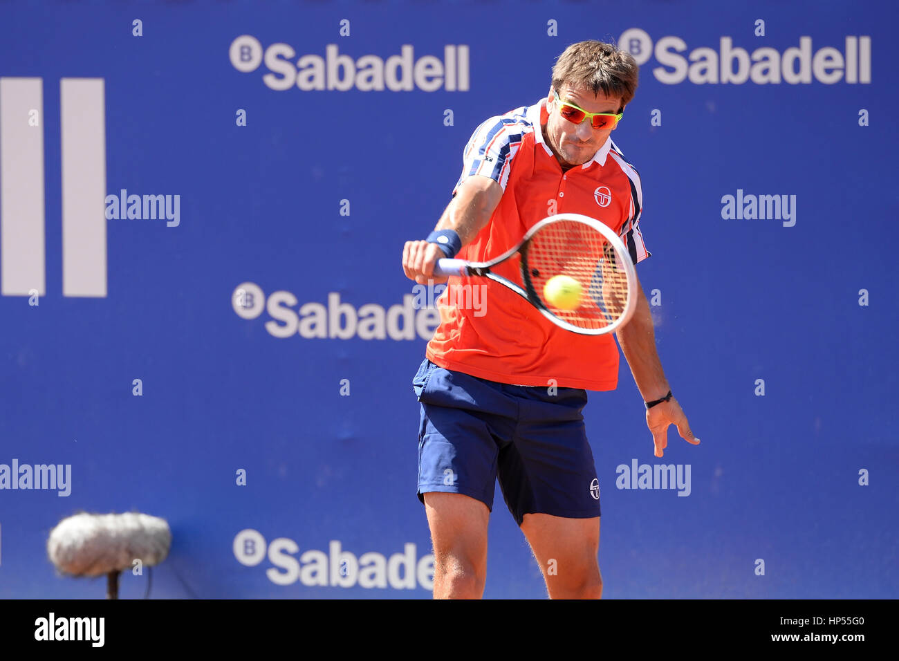
[[[639,67],[627,50],[603,41],[578,41],[565,49],[553,67],[553,89],[567,83],[593,94],[620,96],[621,108],[634,98]]]

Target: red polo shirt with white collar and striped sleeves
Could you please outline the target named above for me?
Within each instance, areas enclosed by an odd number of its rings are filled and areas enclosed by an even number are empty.
[[[590,161],[563,173],[544,142],[541,127],[546,123],[542,99],[492,117],[475,130],[453,194],[467,177],[480,175],[499,183],[503,197],[458,257],[489,260],[518,244],[539,220],[554,213],[581,213],[617,232],[635,264],[644,260],[650,254],[638,224],[643,210],[639,174],[611,138]],[[493,270],[521,284],[518,260]],[[450,278],[438,304],[441,325],[426,355],[442,368],[521,386],[613,390],[618,385],[619,351],[611,335],[566,331],[498,282]]]

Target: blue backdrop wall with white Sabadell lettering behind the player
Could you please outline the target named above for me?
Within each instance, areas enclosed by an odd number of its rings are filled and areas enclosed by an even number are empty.
[[[702,439],[672,428],[654,458],[623,359],[619,389],[592,393],[604,596],[899,596],[897,13],[0,5],[0,76],[42,81],[47,281],[37,300],[0,297],[0,464],[71,467],[68,496],[0,489],[0,596],[101,597],[55,575],[49,530],[78,510],[139,510],[173,531],[155,597],[428,597],[411,380],[433,310],[389,313],[413,291],[402,246],[440,217],[475,127],[546,95],[556,56],[585,39],[641,61],[614,138],[642,175],[653,256],[637,272],[663,366]],[[305,56],[325,89],[290,82],[316,84]],[[346,78],[347,61],[370,76]],[[360,89],[385,63],[383,89]],[[352,86],[328,89],[329,67]],[[106,205],[105,296],[63,293],[68,77],[103,80],[106,192],[180,196],[176,226]],[[787,196],[794,215],[727,218],[727,195]],[[378,315],[382,338],[340,336]],[[633,460],[690,465],[689,496],[619,488]],[[125,574],[121,595],[146,581]],[[485,596],[545,596],[500,497]]]

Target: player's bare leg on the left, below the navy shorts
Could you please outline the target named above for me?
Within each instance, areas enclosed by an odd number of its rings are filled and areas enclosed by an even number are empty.
[[[424,494],[424,509],[434,545],[434,599],[480,599],[490,510],[475,498],[439,492]]]

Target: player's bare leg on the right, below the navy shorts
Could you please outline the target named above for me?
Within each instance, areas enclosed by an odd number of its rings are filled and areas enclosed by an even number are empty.
[[[525,514],[521,531],[543,572],[550,599],[601,598],[602,576],[596,558],[600,517],[566,519]]]

